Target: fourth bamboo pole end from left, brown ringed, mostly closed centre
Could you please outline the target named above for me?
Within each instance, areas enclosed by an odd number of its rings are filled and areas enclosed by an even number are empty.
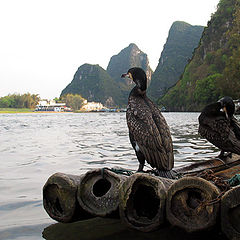
[[[187,232],[209,229],[217,221],[219,202],[211,203],[219,189],[199,177],[184,177],[173,183],[167,192],[168,221]]]

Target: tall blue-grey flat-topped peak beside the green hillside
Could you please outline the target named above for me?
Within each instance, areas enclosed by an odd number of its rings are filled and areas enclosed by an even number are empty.
[[[148,95],[157,100],[180,78],[202,36],[203,26],[174,22],[169,30],[158,66],[152,75]]]

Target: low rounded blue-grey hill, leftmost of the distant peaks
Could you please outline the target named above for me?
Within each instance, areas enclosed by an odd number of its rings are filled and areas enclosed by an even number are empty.
[[[99,65],[84,64],[78,68],[73,80],[63,89],[67,93],[80,94],[88,101],[96,101],[106,106],[120,104],[121,91],[116,82]]]

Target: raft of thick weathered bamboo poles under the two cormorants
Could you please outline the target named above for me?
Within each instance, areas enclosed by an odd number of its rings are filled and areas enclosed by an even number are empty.
[[[107,168],[80,176],[55,173],[43,187],[43,205],[51,218],[63,223],[120,217],[141,232],[170,224],[189,233],[221,225],[228,239],[240,239],[240,156],[174,170],[175,180]]]

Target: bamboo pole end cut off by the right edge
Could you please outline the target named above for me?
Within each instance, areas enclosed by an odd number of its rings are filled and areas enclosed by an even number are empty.
[[[221,199],[221,228],[228,239],[240,239],[240,186],[227,191]]]

